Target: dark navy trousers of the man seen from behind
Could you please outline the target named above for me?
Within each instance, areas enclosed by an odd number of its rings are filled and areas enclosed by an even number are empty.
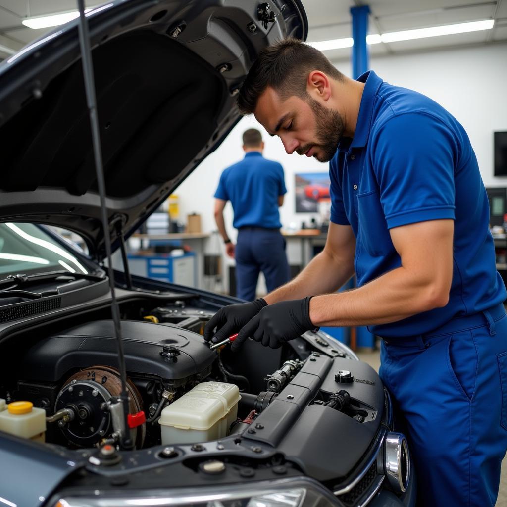
[[[236,242],[236,295],[253,301],[259,273],[266,278],[268,292],[289,280],[285,239],[278,229],[245,227]]]

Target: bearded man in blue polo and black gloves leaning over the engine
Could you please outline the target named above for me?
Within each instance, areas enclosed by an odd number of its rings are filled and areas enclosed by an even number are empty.
[[[351,80],[294,39],[253,64],[238,105],[287,153],[331,161],[327,244],[293,281],[225,307],[206,338],[279,347],[369,325],[407,423],[420,503],[493,506],[507,448],[507,316],[489,206],[463,127],[373,71]],[[358,288],[335,291],[353,274]]]

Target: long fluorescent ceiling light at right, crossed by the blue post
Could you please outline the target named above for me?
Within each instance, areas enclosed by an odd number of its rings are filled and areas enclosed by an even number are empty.
[[[415,30],[403,30],[389,33],[373,33],[366,36],[367,44],[379,44],[381,42],[411,41],[413,39],[425,39],[427,37],[438,37],[438,35],[452,35],[454,33],[466,33],[493,28],[494,20],[472,21],[469,23],[458,23],[454,25],[430,26],[429,28],[417,28]],[[345,39],[334,39],[332,41],[321,41],[309,43],[310,46],[320,51],[330,49],[350,48],[354,41],[350,37]]]

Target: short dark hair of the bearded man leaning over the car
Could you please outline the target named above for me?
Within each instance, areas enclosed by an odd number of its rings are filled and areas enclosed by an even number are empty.
[[[306,98],[306,81],[312,70],[320,70],[343,81],[343,74],[318,49],[288,37],[263,49],[253,63],[238,95],[239,112],[251,115],[267,87],[282,98]]]

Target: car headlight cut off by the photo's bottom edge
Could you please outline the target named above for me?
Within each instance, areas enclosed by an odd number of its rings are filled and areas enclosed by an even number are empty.
[[[115,494],[62,495],[55,507],[339,507],[342,504],[312,479],[285,479],[216,488],[129,490]],[[125,495],[128,494],[128,497]]]

